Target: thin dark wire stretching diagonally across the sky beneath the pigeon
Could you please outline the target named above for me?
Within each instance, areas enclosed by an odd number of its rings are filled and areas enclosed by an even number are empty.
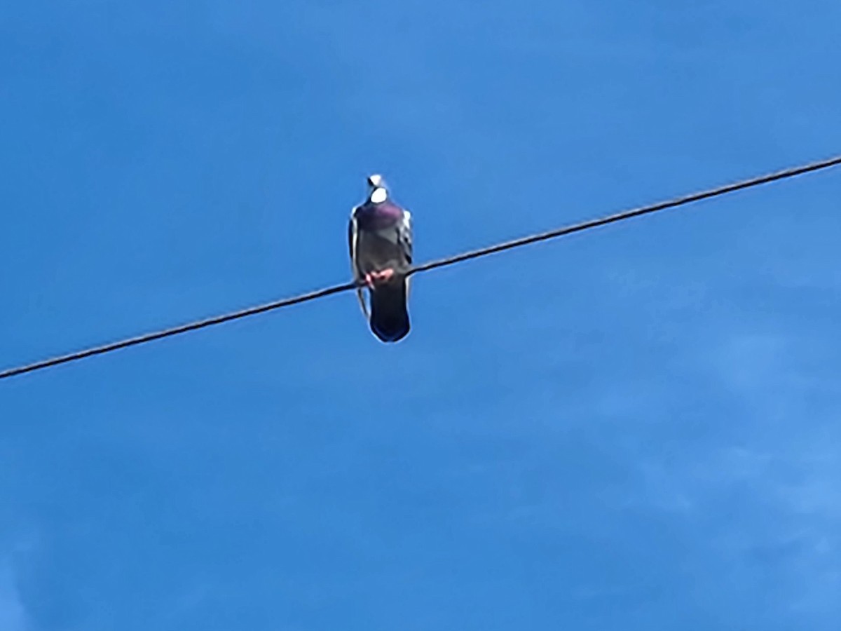
[[[643,206],[636,209],[626,210],[621,213],[616,213],[616,215],[607,215],[598,219],[587,220],[573,225],[567,225],[562,228],[558,228],[557,230],[541,232],[537,235],[532,236],[524,236],[519,239],[514,239],[512,241],[505,241],[504,243],[500,243],[495,246],[483,247],[479,250],[473,250],[472,252],[464,252],[462,254],[457,254],[452,257],[440,258],[435,261],[426,262],[421,265],[416,265],[415,267],[410,269],[409,273],[416,274],[421,272],[428,272],[431,269],[444,268],[459,262],[468,261],[472,258],[484,257],[489,254],[503,252],[505,250],[510,250],[515,247],[527,246],[532,243],[537,243],[538,241],[548,241],[549,239],[555,239],[560,236],[570,235],[574,232],[582,232],[590,230],[591,228],[597,228],[600,225],[607,225],[616,223],[617,221],[632,219],[633,217],[638,217],[640,215],[650,215],[652,213],[659,212],[660,210],[677,208],[679,206],[684,206],[686,204],[701,201],[702,199],[711,199],[720,195],[733,193],[738,190],[743,190],[744,188],[753,188],[755,186],[759,186],[760,184],[766,184],[776,182],[778,180],[793,178],[797,175],[802,175],[804,173],[814,171],[820,171],[822,169],[837,166],[838,164],[841,164],[841,156],[835,156],[833,158],[829,158],[828,160],[822,160],[819,162],[811,162],[800,167],[791,167],[783,171],[761,175],[757,178],[741,180],[740,182],[725,184],[724,186],[720,186],[717,188],[709,188],[705,191],[701,191],[700,193],[694,193],[675,199],[669,199],[668,201],[660,202],[659,204],[652,204],[649,206]],[[0,379],[8,379],[9,377],[14,377],[19,374],[32,373],[36,370],[47,369],[52,366],[57,366],[61,363],[74,362],[77,359],[93,357],[93,355],[111,353],[112,351],[119,350],[120,348],[137,346],[139,344],[145,344],[146,342],[153,342],[155,340],[160,340],[163,337],[172,337],[175,335],[180,335],[181,333],[186,333],[188,331],[196,331],[198,329],[203,329],[207,326],[214,326],[217,324],[222,324],[223,322],[239,320],[241,318],[247,317],[248,315],[266,313],[267,311],[281,309],[282,307],[298,305],[302,302],[309,302],[310,300],[325,298],[326,296],[332,294],[340,294],[341,292],[350,291],[351,289],[356,288],[356,283],[334,285],[325,289],[318,289],[316,291],[309,292],[308,294],[301,294],[292,298],[276,300],[265,305],[257,305],[254,307],[249,307],[248,309],[234,311],[225,315],[216,315],[214,317],[206,318],[204,320],[199,321],[193,321],[181,326],[173,326],[172,328],[164,329],[162,331],[146,333],[145,335],[140,335],[137,337],[129,337],[119,342],[112,342],[110,344],[105,344],[99,347],[87,348],[85,350],[78,351],[77,353],[68,353],[66,355],[60,355],[55,358],[45,359],[40,362],[19,366],[18,368],[3,370],[3,372],[0,372]]]

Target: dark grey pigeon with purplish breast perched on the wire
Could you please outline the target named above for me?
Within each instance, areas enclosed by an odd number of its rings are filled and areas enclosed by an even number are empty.
[[[352,210],[348,226],[353,278],[368,287],[369,305],[357,289],[362,313],[383,342],[409,333],[409,272],[412,223],[408,210],[394,203],[381,175],[368,178],[368,199]]]

